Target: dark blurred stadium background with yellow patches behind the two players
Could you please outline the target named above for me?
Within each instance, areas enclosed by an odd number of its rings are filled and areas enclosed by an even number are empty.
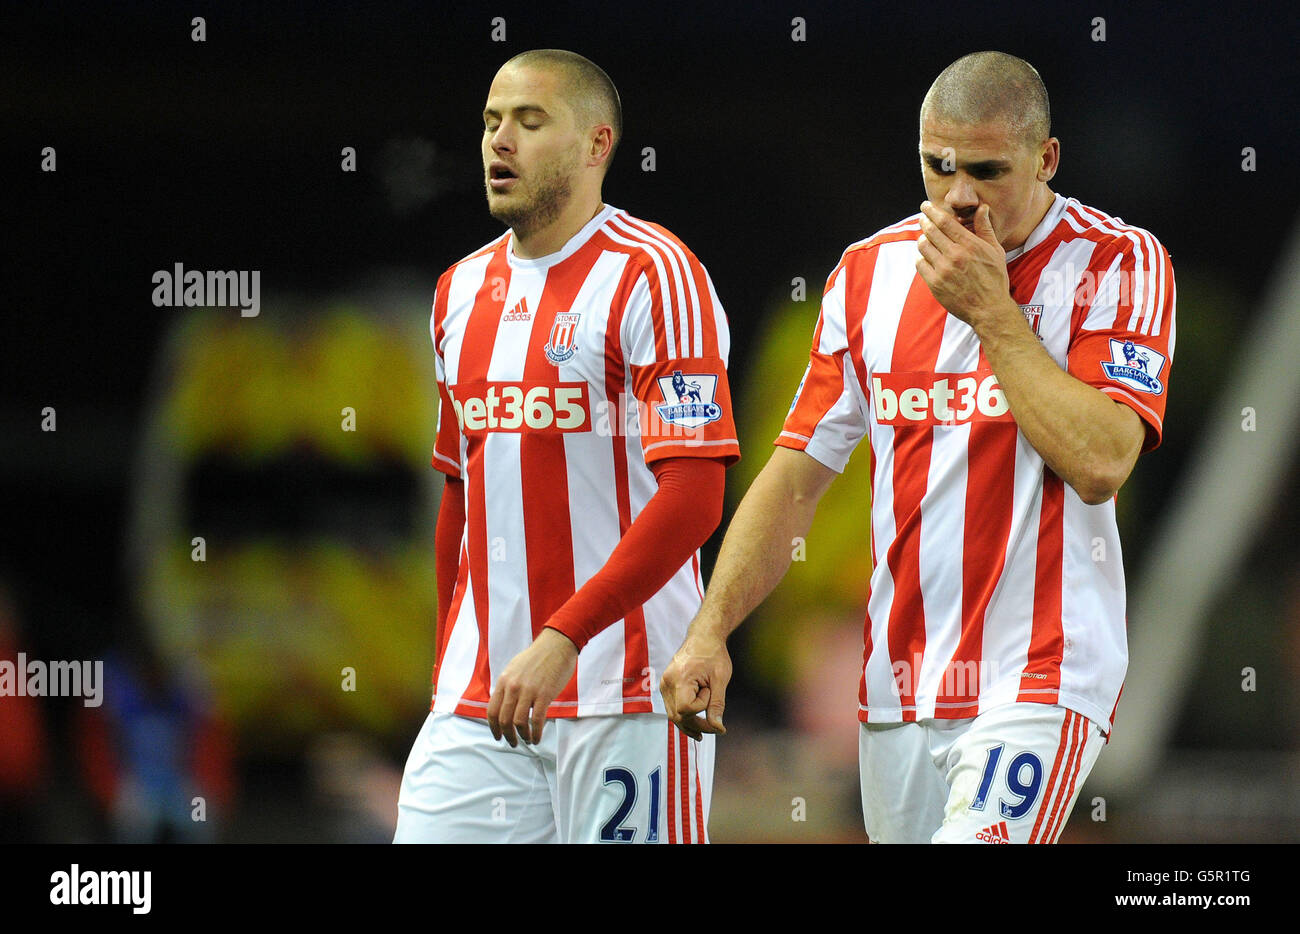
[[[1178,274],[1166,438],[1119,500],[1132,665],[1065,839],[1300,840],[1300,65],[1271,35],[1290,20],[1200,1],[221,4],[196,43],[195,14],[3,14],[0,660],[101,660],[109,691],[0,697],[0,840],[390,839],[433,658],[428,307],[499,230],[478,114],[498,65],[536,47],[611,73],[627,137],[606,200],[692,245],[728,308],[731,507],[840,251],[923,198],[930,81],[980,48],[1040,69],[1053,187],[1154,232]],[[174,263],[260,271],[260,315],[153,307]],[[733,639],[715,840],[863,839],[864,460]]]

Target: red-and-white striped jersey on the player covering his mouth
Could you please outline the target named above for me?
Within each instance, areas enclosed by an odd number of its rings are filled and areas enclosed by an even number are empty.
[[[1060,704],[1109,732],[1128,662],[1115,501],[1088,506],[1018,431],[975,332],[916,273],[919,215],[850,246],[776,444],[871,454],[863,722]],[[1147,230],[1057,195],[1008,254],[1052,359],[1160,444],[1174,271]]]

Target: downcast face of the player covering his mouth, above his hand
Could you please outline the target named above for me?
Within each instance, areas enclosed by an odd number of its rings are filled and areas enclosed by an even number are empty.
[[[1056,139],[1035,146],[1001,122],[972,126],[927,114],[920,125],[926,198],[971,232],[975,209],[988,204],[1005,250],[1023,245],[1041,220],[1058,153]]]

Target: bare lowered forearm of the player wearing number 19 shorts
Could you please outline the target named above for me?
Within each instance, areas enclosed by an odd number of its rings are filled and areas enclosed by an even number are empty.
[[[833,477],[802,451],[772,453],[736,509],[689,635],[725,640],[781,583]]]

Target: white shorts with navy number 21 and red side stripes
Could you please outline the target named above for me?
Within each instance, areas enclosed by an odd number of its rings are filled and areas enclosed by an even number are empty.
[[[707,843],[714,736],[663,714],[546,721],[514,749],[430,713],[402,775],[394,843]]]

